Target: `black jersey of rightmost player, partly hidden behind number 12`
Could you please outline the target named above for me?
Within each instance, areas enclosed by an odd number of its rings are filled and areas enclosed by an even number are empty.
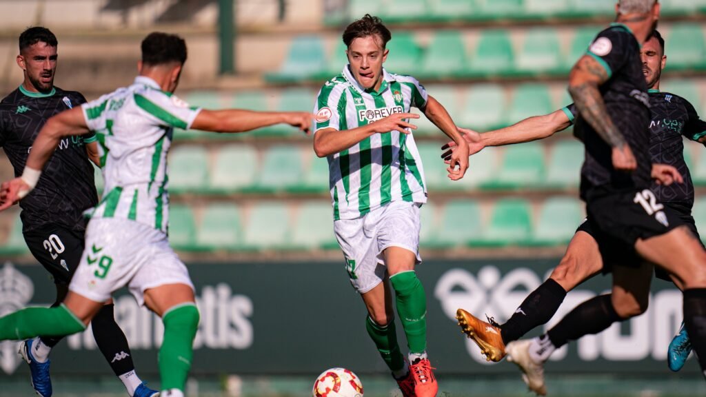
[[[682,136],[697,141],[706,136],[706,122],[699,119],[694,107],[683,97],[650,90],[650,159],[653,163],[675,167],[684,178],[683,184],[664,186],[652,182],[651,189],[661,203],[678,204],[690,213],[694,204],[694,185],[684,160]],[[574,104],[562,109],[573,122],[577,115]],[[580,134],[577,138],[583,140]]]

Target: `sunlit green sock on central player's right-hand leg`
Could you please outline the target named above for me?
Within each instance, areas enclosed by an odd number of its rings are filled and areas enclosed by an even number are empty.
[[[426,351],[426,295],[417,273],[403,271],[390,276],[395,290],[397,314],[407,334],[410,353]]]

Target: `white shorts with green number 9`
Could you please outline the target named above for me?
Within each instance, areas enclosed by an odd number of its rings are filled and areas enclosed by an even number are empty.
[[[189,271],[169,247],[164,232],[121,218],[88,223],[85,249],[69,290],[105,302],[127,285],[143,305],[145,290],[167,284],[185,284],[193,290]]]

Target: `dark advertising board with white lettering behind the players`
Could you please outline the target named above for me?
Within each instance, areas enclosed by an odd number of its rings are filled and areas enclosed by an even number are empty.
[[[428,297],[429,354],[438,372],[515,374],[517,369],[508,363],[486,364],[460,333],[455,310],[464,307],[504,321],[556,263],[558,259],[430,260],[419,266]],[[194,263],[189,271],[201,309],[194,373],[318,374],[335,366],[359,373],[388,372],[366,334],[364,306],[349,285],[342,261]],[[559,314],[608,290],[610,282],[609,277],[598,276],[581,285],[568,295]],[[0,314],[28,304],[47,305],[53,296],[52,283],[40,266],[0,264]],[[156,372],[160,319],[139,308],[124,290],[116,295],[115,312],[140,372]],[[681,293],[654,280],[647,314],[556,352],[548,370],[666,373],[667,345],[680,321]],[[402,327],[397,328],[401,332]],[[0,344],[0,377],[28,372],[20,365],[16,345]],[[697,372],[693,357],[685,371]],[[87,331],[52,352],[52,373],[110,374],[110,370]]]

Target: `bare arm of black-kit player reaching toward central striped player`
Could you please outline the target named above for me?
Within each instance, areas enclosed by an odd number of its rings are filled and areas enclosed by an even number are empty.
[[[550,114],[529,117],[511,126],[482,134],[471,129],[459,128],[458,131],[468,143],[468,154],[474,155],[487,146],[505,146],[548,138],[568,129],[570,125],[569,117],[562,109],[558,109]],[[441,157],[444,160],[450,160],[451,154],[456,150],[455,147],[454,141],[446,143],[441,147],[441,150],[446,150]]]

